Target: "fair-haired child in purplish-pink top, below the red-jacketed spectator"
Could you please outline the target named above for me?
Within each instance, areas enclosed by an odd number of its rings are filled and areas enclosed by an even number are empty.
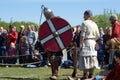
[[[10,47],[7,50],[7,63],[8,64],[15,64],[16,63],[16,54],[17,50],[15,44],[11,42]]]

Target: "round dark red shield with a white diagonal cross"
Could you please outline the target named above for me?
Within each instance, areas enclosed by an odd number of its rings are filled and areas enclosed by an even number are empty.
[[[59,17],[45,21],[39,29],[41,44],[52,52],[58,52],[69,46],[72,35],[70,24]]]

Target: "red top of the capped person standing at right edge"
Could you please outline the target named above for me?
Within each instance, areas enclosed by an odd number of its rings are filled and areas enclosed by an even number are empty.
[[[120,23],[119,22],[116,22],[115,26],[113,26],[111,38],[120,38]]]

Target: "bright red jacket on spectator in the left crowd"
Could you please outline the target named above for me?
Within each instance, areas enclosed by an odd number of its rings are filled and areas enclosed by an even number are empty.
[[[7,41],[6,46],[9,47],[11,42],[16,44],[17,38],[18,38],[18,33],[15,31],[10,31],[8,35],[5,36],[5,40]]]

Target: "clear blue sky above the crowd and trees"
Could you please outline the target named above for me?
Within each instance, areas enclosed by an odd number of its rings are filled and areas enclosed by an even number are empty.
[[[41,5],[50,8],[56,16],[66,19],[72,26],[81,24],[83,13],[90,9],[93,15],[102,14],[104,9],[120,13],[120,0],[0,0],[2,21],[32,21],[39,23]],[[42,16],[41,23],[45,21]]]

